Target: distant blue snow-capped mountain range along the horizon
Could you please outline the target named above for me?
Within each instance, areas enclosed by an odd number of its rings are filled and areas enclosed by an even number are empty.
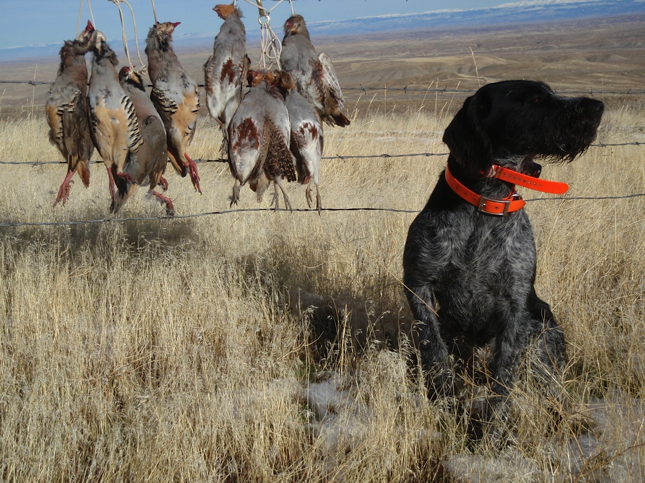
[[[308,26],[314,36],[346,36],[392,30],[551,22],[626,14],[645,14],[645,0],[528,0],[471,10],[434,10],[420,14],[381,15],[349,20],[312,22]],[[216,33],[177,35],[175,46],[187,48],[210,44]],[[259,37],[259,32],[255,29],[250,30],[248,38],[253,40],[257,37]],[[110,43],[118,44],[120,41],[120,39],[114,39]],[[0,49],[0,61],[56,55],[60,48],[61,44],[40,44]]]

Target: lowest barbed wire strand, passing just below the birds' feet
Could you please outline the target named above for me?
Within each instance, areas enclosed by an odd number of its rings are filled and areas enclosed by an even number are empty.
[[[624,194],[619,196],[555,196],[553,198],[529,198],[524,201],[537,202],[537,201],[571,201],[571,200],[624,200],[628,198],[637,198],[645,196],[645,193]],[[341,211],[377,211],[387,213],[421,213],[421,210],[398,209],[398,208],[384,208],[384,207],[355,207],[355,208],[322,208],[321,211],[328,211],[330,213]],[[294,208],[289,210],[286,208],[273,209],[273,208],[243,208],[243,209],[228,209],[221,211],[208,211],[203,213],[192,214],[177,214],[172,218],[168,216],[133,216],[132,218],[97,218],[96,220],[70,220],[67,222],[1,222],[0,227],[34,227],[34,226],[66,226],[66,225],[84,225],[92,223],[114,223],[114,222],[132,222],[132,221],[154,221],[154,220],[183,220],[186,218],[201,218],[203,216],[213,216],[216,214],[231,214],[231,213],[319,213],[315,208]]]

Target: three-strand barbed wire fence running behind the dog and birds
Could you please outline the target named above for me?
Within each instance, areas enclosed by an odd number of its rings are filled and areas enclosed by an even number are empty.
[[[32,86],[38,85],[52,85],[54,82],[48,81],[3,81],[0,80],[0,84],[29,84]],[[203,88],[203,84],[197,84],[199,87]],[[148,87],[152,87],[150,84]],[[344,87],[344,91],[396,91],[402,93],[463,93],[470,94],[475,93],[477,90],[468,90],[468,89],[450,89],[450,88],[408,88],[405,86],[403,88],[388,88],[388,87],[369,87],[369,86],[358,86],[358,87]],[[558,94],[568,94],[568,95],[645,95],[645,90],[626,90],[626,91],[606,91],[606,90],[561,90],[555,91]],[[594,143],[590,147],[617,147],[617,146],[645,146],[645,142],[631,141],[631,142],[617,142],[617,143]],[[335,156],[323,156],[322,160],[351,160],[351,159],[388,159],[388,158],[410,158],[410,157],[432,157],[432,156],[448,156],[448,153],[404,153],[404,154],[373,154],[373,155],[335,155]],[[203,159],[198,158],[194,160],[196,163],[228,163],[228,160],[224,158],[215,158],[215,159]],[[52,165],[52,164],[65,164],[62,161],[6,161],[0,160],[0,165],[19,165],[19,166],[30,166],[37,167],[41,165]],[[103,164],[103,160],[90,161],[90,164]],[[524,201],[527,203],[530,202],[541,202],[541,201],[555,201],[561,200],[563,202],[568,202],[571,200],[625,200],[630,198],[640,198],[645,197],[645,193],[632,193],[624,194],[617,196],[552,196],[552,197],[542,197],[542,198],[526,198]],[[335,212],[352,212],[352,211],[372,211],[372,212],[385,212],[385,213],[421,213],[419,210],[410,210],[410,209],[395,209],[388,207],[348,207],[348,208],[323,208],[321,211],[328,213]],[[82,224],[92,224],[92,223],[118,223],[118,222],[130,222],[130,221],[152,221],[152,220],[183,220],[187,218],[202,218],[204,216],[214,216],[219,214],[234,214],[234,213],[276,213],[276,212],[286,212],[286,213],[319,213],[317,209],[273,209],[273,208],[246,208],[246,209],[226,209],[220,211],[208,211],[201,213],[192,213],[192,214],[175,214],[172,218],[167,216],[133,216],[133,217],[124,217],[124,218],[97,218],[95,220],[68,220],[61,222],[0,222],[0,227],[34,227],[34,226],[69,226],[69,225],[82,225]]]

